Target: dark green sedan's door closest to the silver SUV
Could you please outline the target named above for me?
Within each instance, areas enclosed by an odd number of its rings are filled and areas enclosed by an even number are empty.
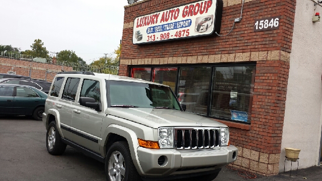
[[[32,115],[34,109],[41,103],[41,98],[30,87],[16,86],[13,113],[17,115]]]

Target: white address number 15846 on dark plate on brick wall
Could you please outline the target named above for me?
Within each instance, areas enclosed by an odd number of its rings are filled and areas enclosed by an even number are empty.
[[[280,28],[280,17],[255,20],[254,32],[276,30]]]

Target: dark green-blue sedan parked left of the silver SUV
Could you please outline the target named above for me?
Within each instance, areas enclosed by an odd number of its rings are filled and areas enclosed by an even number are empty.
[[[33,116],[41,121],[47,96],[32,86],[0,84],[0,115]]]

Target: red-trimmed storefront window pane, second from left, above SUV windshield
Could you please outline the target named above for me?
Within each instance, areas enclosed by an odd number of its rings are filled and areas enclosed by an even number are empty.
[[[152,81],[162,83],[175,91],[178,68],[153,68]]]

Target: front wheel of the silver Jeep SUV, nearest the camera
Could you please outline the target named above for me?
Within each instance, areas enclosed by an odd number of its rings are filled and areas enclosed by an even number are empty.
[[[141,181],[127,142],[115,142],[109,148],[105,159],[105,173],[108,181]]]

